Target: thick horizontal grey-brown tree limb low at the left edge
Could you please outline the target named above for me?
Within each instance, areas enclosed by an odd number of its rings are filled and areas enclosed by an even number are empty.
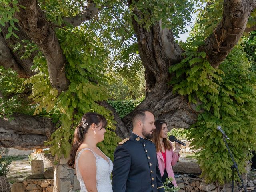
[[[44,141],[56,130],[48,118],[14,114],[12,120],[0,118],[0,147],[30,150],[46,148]]]

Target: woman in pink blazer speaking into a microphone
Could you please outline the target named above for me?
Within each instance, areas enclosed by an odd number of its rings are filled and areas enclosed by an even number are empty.
[[[156,153],[158,160],[158,168],[161,172],[162,182],[166,182],[166,178],[172,177],[172,184],[177,186],[172,166],[176,164],[180,157],[180,144],[175,143],[175,151],[170,141],[167,140],[167,124],[163,120],[155,121],[156,129],[153,132],[153,142],[156,145]]]

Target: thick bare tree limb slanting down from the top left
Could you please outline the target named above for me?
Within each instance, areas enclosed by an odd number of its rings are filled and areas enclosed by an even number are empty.
[[[26,9],[20,9],[15,16],[26,34],[44,53],[52,86],[58,92],[66,90],[69,82],[65,76],[65,59],[52,26],[47,22],[36,0],[20,0],[19,3]]]

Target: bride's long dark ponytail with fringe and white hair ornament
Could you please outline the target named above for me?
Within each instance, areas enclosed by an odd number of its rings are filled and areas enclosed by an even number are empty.
[[[84,141],[89,127],[93,123],[95,123],[96,125],[102,123],[102,128],[106,128],[107,126],[106,118],[100,114],[88,112],[83,115],[82,121],[75,129],[72,148],[70,151],[70,159],[68,160],[68,165],[73,169],[75,164],[76,152]]]

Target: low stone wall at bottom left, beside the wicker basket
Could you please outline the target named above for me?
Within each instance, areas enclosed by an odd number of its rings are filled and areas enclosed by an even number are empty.
[[[12,184],[11,192],[53,192],[53,179],[26,179]]]

